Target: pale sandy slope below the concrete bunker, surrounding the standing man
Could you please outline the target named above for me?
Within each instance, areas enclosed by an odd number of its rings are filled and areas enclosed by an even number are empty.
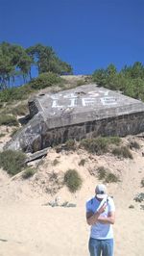
[[[133,160],[119,160],[111,155],[91,156],[83,150],[61,152],[51,150],[36,176],[24,181],[11,180],[0,171],[0,256],[86,256],[89,226],[85,222],[85,200],[93,195],[97,177],[90,175],[98,166],[106,166],[118,174],[121,182],[108,184],[116,205],[115,256],[143,256],[144,211],[133,201],[137,192],[144,192],[140,181],[144,177],[144,141],[138,151],[132,150]],[[127,141],[127,140],[126,140]],[[57,159],[59,164],[53,166]],[[84,166],[79,166],[86,159]],[[83,177],[81,191],[71,194],[63,187],[55,195],[46,193],[49,173],[76,168]],[[90,172],[90,173],[89,173]],[[56,188],[57,189],[57,188]],[[60,202],[76,203],[74,208],[43,205],[60,196]],[[134,208],[130,209],[129,206]],[[4,242],[2,240],[7,240]]]

